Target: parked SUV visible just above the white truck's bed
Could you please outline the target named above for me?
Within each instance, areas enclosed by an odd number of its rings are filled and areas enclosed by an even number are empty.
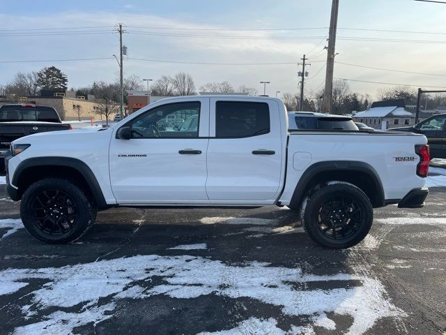
[[[288,112],[289,130],[325,129],[339,131],[357,131],[351,117],[316,112]]]

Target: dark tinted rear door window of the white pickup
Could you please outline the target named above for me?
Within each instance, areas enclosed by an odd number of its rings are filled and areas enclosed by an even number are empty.
[[[268,103],[217,101],[215,105],[215,137],[236,138],[270,132]]]

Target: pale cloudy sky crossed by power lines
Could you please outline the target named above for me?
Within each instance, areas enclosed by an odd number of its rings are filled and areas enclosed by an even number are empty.
[[[338,62],[446,75],[446,4],[413,0],[339,2]],[[178,71],[184,71],[194,77],[197,88],[206,82],[227,80],[234,87],[240,84],[255,87],[259,93],[263,93],[263,86],[259,82],[268,80],[271,84],[267,86],[266,93],[275,95],[275,91],[298,90],[297,64],[199,65],[135,59],[199,63],[297,63],[305,53],[312,63],[308,68],[310,79],[306,91],[318,89],[325,79],[323,66],[326,52],[323,47],[330,24],[330,0],[1,0],[0,6],[0,84],[6,84],[18,71],[28,72],[52,65],[61,68],[68,75],[69,87],[85,86],[95,80],[115,80],[118,77],[115,59],[1,62],[112,57],[119,50],[118,35],[112,29],[120,22],[128,31],[123,36],[130,58],[124,62],[125,75],[134,74],[156,80],[161,75],[174,75]],[[60,29],[69,28],[66,31],[75,31],[73,27],[98,28],[87,29],[89,34],[55,35],[61,32]],[[45,33],[52,31],[55,34],[42,36],[41,31],[13,30],[49,28],[54,30],[46,30]],[[424,31],[436,34],[357,29]],[[15,36],[5,36],[8,34]],[[384,38],[390,41],[362,38]],[[420,43],[415,40],[436,43]],[[445,42],[438,43],[439,41]],[[351,80],[424,85],[426,88],[428,85],[446,87],[446,76],[390,72],[343,64],[335,65],[334,76]],[[371,95],[376,94],[379,87],[387,87],[383,84],[353,81],[349,85],[354,91]]]

